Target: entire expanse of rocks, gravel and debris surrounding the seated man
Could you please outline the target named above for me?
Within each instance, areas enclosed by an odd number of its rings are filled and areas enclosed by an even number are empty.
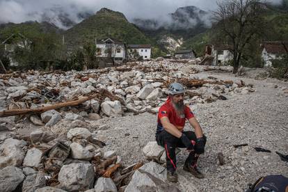
[[[288,83],[198,63],[159,58],[81,72],[0,74],[0,189],[243,191],[264,175],[287,177],[281,154],[288,152]],[[182,170],[188,152],[180,149],[179,182],[169,184],[154,134],[174,81],[186,87],[184,103],[207,147],[199,161],[205,179]]]

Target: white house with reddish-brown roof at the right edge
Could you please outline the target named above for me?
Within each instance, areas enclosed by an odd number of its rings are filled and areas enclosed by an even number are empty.
[[[273,60],[281,59],[283,54],[288,54],[288,42],[262,42],[262,61],[265,67],[271,67]]]

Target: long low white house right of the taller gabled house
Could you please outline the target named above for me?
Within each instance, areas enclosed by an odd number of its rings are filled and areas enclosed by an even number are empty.
[[[137,54],[136,54],[137,53]],[[151,58],[151,45],[128,45],[129,58],[135,58],[136,55],[144,60]]]

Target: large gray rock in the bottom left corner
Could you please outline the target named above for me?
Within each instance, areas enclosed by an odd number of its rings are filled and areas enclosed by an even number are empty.
[[[20,168],[8,166],[0,170],[0,189],[1,192],[14,191],[24,180],[25,175]]]

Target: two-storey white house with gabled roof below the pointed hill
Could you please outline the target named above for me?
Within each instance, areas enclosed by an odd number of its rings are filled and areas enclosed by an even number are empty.
[[[95,42],[96,55],[99,58],[112,58],[115,62],[122,62],[127,58],[126,44],[113,38],[107,38]]]

